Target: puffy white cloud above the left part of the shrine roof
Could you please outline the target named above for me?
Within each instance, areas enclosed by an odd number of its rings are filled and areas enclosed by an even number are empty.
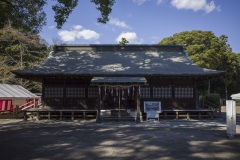
[[[64,42],[72,42],[76,39],[84,39],[84,40],[97,40],[100,37],[95,31],[84,29],[81,25],[75,25],[69,30],[61,30],[58,32],[61,40]]]

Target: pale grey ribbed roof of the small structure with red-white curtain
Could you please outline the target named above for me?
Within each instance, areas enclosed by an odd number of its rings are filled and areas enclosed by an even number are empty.
[[[20,85],[0,84],[0,99],[34,97],[38,96],[31,93]]]

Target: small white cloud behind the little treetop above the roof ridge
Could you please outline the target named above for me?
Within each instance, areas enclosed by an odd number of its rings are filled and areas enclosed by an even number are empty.
[[[116,42],[121,41],[122,38],[126,38],[129,43],[132,44],[141,44],[143,42],[142,39],[139,39],[135,32],[123,32],[117,38]]]

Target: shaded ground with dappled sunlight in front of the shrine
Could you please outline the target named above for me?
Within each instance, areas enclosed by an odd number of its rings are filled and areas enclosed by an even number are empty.
[[[240,159],[240,124],[224,119],[134,122],[0,119],[0,160]]]

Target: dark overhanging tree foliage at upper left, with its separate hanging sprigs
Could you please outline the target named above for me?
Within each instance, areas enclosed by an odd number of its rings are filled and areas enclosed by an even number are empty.
[[[67,21],[69,15],[78,5],[78,0],[52,0],[55,12],[55,22],[57,28],[61,28]],[[96,5],[101,16],[99,23],[109,21],[109,14],[115,0],[90,0]],[[25,31],[39,33],[42,26],[46,25],[46,13],[43,7],[47,5],[47,0],[1,0],[0,1],[0,28],[6,24],[11,24],[14,28],[22,28]]]

